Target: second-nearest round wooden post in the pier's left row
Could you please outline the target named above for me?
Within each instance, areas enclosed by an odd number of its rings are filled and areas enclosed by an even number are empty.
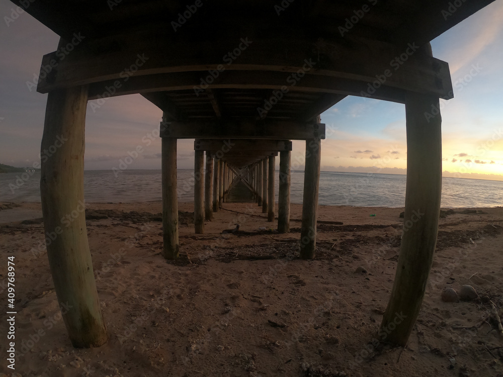
[[[177,139],[163,137],[161,144],[162,254],[178,259]]]

